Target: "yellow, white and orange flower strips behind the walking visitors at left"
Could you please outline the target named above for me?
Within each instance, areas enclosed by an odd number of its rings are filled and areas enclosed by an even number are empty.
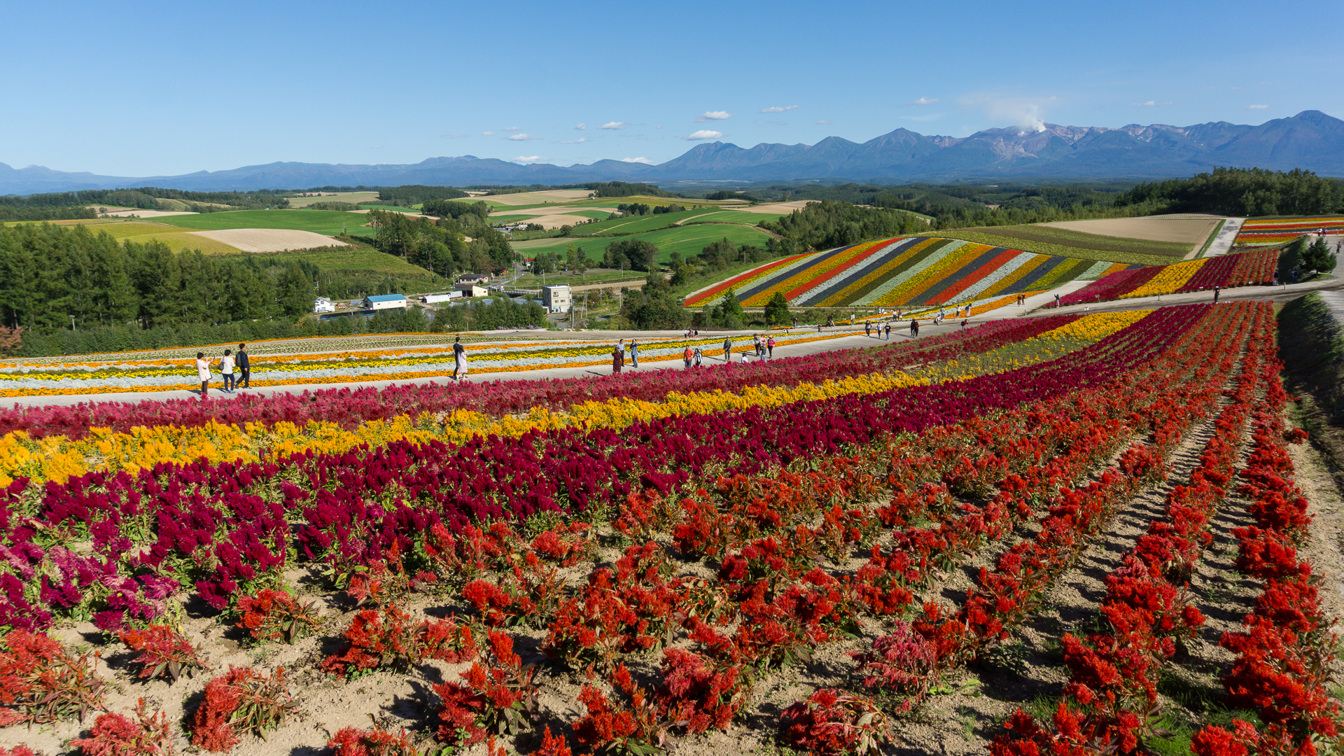
[[[780,344],[797,344],[840,338],[844,334],[775,334]],[[442,336],[439,336],[442,338]],[[739,340],[741,342],[741,340]],[[687,346],[706,355],[722,356],[722,336],[698,339],[648,339],[640,344],[640,359],[664,362],[681,359]],[[609,342],[507,342],[466,344],[470,373],[516,373],[550,367],[590,367],[612,363]],[[735,352],[749,351],[738,343]],[[218,362],[223,348],[207,352]],[[0,397],[60,394],[116,394],[129,391],[172,391],[199,389],[195,351],[191,356],[152,355],[137,359],[134,352],[103,355],[102,359],[59,362],[50,358],[24,363],[0,363]],[[293,386],[348,383],[358,381],[399,381],[431,378],[453,373],[450,343],[423,347],[347,350],[319,354],[262,354],[251,356],[253,386]],[[216,383],[218,387],[218,374]]]

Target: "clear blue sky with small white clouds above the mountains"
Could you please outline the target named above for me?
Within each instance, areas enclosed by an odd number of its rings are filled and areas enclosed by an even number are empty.
[[[0,161],[102,175],[1344,117],[1339,0],[11,0],[4,17]]]

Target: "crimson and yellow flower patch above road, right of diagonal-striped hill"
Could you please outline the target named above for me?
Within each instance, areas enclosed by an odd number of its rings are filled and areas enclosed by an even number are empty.
[[[1149,265],[1103,276],[1059,299],[1060,305],[1113,299],[1200,292],[1214,287],[1269,285],[1278,266],[1278,249],[1203,257],[1171,265]]]

